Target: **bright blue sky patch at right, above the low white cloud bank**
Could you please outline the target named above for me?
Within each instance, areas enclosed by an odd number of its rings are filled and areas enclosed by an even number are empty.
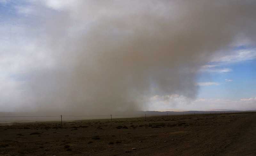
[[[255,96],[255,60],[244,60],[237,63],[219,66],[228,68],[228,72],[205,72],[199,81],[216,82],[217,84],[201,86],[198,97],[200,98],[223,98],[239,100]]]

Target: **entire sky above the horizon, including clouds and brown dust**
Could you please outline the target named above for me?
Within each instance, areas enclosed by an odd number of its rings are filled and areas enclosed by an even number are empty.
[[[256,1],[0,0],[0,111],[256,110]]]

